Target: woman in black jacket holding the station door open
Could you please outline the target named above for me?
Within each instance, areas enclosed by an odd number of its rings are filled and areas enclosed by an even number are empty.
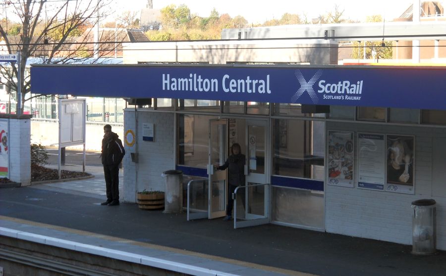
[[[226,206],[226,217],[223,221],[232,219],[232,207],[234,201],[232,200],[232,193],[238,186],[245,185],[245,155],[241,154],[241,148],[238,143],[234,143],[231,146],[231,155],[226,159],[226,162],[222,166],[217,167],[217,170],[226,170],[227,183],[228,183],[228,201]],[[245,206],[245,189],[241,188],[237,190],[237,198],[241,199],[243,206]],[[235,215],[235,214],[234,214]]]

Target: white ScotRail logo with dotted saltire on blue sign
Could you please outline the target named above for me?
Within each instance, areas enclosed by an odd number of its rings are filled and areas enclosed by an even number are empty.
[[[316,71],[316,73],[311,77],[311,79],[307,82],[302,75],[300,70],[296,70],[294,72],[297,80],[299,81],[300,88],[294,95],[291,97],[291,102],[296,103],[297,99],[300,96],[308,92],[311,100],[314,104],[319,102],[319,96],[314,91],[313,86],[322,76],[322,70]],[[337,83],[327,83],[326,80],[320,80],[318,83],[319,90],[318,93],[322,93],[322,98],[324,100],[354,100],[359,101],[362,97],[362,84],[363,81],[357,81],[355,83],[351,83],[350,81],[338,81]],[[352,95],[354,94],[354,95]]]

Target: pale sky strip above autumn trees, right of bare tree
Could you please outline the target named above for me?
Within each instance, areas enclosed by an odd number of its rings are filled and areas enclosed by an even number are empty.
[[[147,0],[116,0],[118,12],[138,11],[146,7]],[[153,0],[153,8],[161,9],[169,4],[185,4],[191,14],[209,16],[215,7],[220,14],[228,13],[232,18],[241,15],[249,23],[263,23],[279,19],[283,13],[306,14],[307,19],[334,11],[335,4],[344,10],[345,19],[365,21],[366,16],[381,14],[386,21],[401,15],[413,0]]]

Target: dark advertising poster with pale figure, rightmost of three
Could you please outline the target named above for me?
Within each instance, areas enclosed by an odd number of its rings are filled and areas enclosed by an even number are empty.
[[[414,193],[413,136],[387,136],[387,184],[386,191]]]

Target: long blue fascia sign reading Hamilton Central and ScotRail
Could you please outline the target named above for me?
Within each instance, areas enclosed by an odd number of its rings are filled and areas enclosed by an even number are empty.
[[[33,65],[31,92],[446,110],[446,67]]]

